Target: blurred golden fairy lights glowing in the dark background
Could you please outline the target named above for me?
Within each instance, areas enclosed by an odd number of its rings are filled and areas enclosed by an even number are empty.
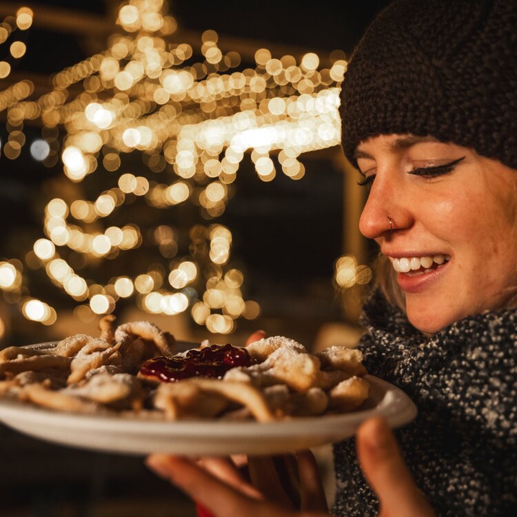
[[[105,52],[55,74],[49,92],[34,97],[28,80],[0,92],[9,132],[2,151],[8,159],[26,145],[24,123],[40,121],[41,139],[30,144],[34,159],[48,167],[61,161],[63,174],[77,185],[90,174],[116,177],[95,199],[50,199],[32,250],[22,260],[0,263],[4,298],[32,321],[50,325],[57,318],[55,308],[31,296],[24,281],[29,268],[41,268],[77,304],[79,318],[112,312],[119,300],[134,296],[147,312],[190,311],[210,332],[232,332],[237,318],[260,314],[256,302],[243,298],[243,273],[231,266],[232,233],[214,221],[225,211],[243,156],[250,154],[262,181],[272,181],[278,166],[299,180],[305,174],[301,154],[339,142],[343,52],[334,51],[332,66],[322,69],[312,52],[297,62],[261,48],[254,68],[243,68],[239,52],[223,52],[218,34],[206,30],[203,59],[194,62],[190,45],[172,43],[177,24],[167,11],[162,0],[130,0],[119,9],[119,32]],[[17,32],[28,30],[32,18],[30,8],[21,8],[0,23],[0,45],[10,45],[12,59],[26,52]],[[0,79],[9,74],[8,61],[0,61]],[[141,154],[147,171],[170,171],[167,180],[123,170],[122,159],[130,153]],[[206,224],[190,229],[189,256],[179,258],[171,226],[144,232],[131,222],[110,225],[110,216],[135,196],[161,210],[199,205]],[[159,248],[166,267],[99,283],[81,276],[67,259],[73,251],[85,261],[115,260],[145,239]],[[351,274],[355,270],[348,276],[336,270],[339,285],[354,283]]]

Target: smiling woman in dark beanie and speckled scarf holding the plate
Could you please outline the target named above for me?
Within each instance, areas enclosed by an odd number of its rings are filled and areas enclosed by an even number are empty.
[[[360,346],[419,414],[398,431],[409,469],[382,420],[336,445],[338,516],[517,514],[516,70],[514,0],[396,0],[352,56],[343,148],[384,271]],[[222,460],[148,463],[216,516],[324,515],[306,454],[303,513]]]

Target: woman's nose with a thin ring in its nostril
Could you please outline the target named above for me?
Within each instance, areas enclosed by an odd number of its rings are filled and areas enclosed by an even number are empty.
[[[403,182],[377,174],[359,219],[361,233],[367,239],[378,239],[408,228],[412,223],[411,203]]]

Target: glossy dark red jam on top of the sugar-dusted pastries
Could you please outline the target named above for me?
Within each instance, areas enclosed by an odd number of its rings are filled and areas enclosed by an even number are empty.
[[[154,357],[143,363],[140,373],[172,383],[188,377],[222,378],[229,369],[250,365],[252,358],[245,348],[211,345],[189,350],[185,356]]]

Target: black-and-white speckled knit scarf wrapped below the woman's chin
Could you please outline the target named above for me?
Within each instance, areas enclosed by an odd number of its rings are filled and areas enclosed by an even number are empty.
[[[517,310],[471,316],[427,338],[374,293],[363,323],[368,372],[418,406],[397,437],[436,514],[517,516]],[[375,516],[354,447],[334,447],[334,513]]]

